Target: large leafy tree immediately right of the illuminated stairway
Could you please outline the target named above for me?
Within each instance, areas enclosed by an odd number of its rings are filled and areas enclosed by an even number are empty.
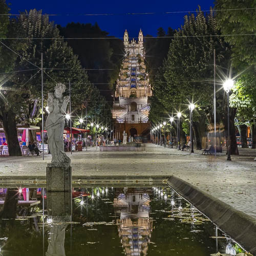
[[[204,15],[199,8],[196,16],[185,16],[184,25],[176,31],[170,43],[163,66],[164,79],[154,83],[154,94],[167,110],[184,112],[189,101],[196,102],[198,108],[194,112],[194,127],[199,148],[205,146],[206,132],[213,127],[214,49],[217,65],[228,67],[230,61],[230,48],[224,38],[218,36],[219,33],[212,10]],[[227,100],[221,86],[217,86],[217,123],[227,127]],[[236,110],[231,109],[230,112],[231,154],[238,154],[236,130],[232,121]]]

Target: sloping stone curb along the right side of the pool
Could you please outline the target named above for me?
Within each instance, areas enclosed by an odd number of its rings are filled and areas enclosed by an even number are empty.
[[[171,176],[167,184],[203,212],[252,254],[256,254],[256,219],[205,193],[190,183]]]

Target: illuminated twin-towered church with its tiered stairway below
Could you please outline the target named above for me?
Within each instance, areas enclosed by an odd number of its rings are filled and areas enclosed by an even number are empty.
[[[122,139],[123,131],[128,137],[147,137],[150,122],[151,85],[145,66],[143,34],[139,31],[138,41],[129,41],[128,32],[123,36],[125,56],[117,80],[112,117],[115,119],[115,137]]]

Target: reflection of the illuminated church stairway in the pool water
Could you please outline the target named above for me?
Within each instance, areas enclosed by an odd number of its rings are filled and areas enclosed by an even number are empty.
[[[118,233],[125,255],[145,255],[150,242],[153,220],[149,218],[150,197],[147,191],[124,188],[114,199]]]

